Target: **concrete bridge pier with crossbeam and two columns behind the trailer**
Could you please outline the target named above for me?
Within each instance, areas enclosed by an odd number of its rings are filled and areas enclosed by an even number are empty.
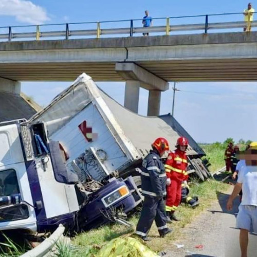
[[[138,112],[139,87],[149,90],[148,116],[160,113],[161,91],[169,89],[169,83],[135,63],[116,63],[115,70],[126,80],[124,106]]]

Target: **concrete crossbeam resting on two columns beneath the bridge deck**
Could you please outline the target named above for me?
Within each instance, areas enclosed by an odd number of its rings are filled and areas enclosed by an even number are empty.
[[[119,62],[115,65],[115,70],[125,80],[139,81],[140,86],[148,90],[169,89],[169,83],[135,63]]]

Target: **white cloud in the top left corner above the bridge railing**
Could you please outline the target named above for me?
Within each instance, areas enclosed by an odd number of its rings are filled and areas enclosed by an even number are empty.
[[[44,8],[25,0],[0,0],[0,15],[14,16],[19,22],[35,25],[50,20]]]

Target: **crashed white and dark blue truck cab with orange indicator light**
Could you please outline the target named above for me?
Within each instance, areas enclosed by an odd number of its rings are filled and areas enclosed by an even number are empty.
[[[0,142],[0,230],[34,234],[61,223],[79,230],[105,222],[112,208],[135,207],[133,181],[113,178],[87,191],[78,174],[66,168],[59,142],[48,139],[42,122],[2,122]]]

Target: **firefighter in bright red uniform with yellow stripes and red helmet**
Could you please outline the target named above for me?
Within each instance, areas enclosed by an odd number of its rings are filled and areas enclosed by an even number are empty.
[[[174,215],[174,212],[181,201],[181,182],[188,179],[188,161],[186,155],[188,148],[187,138],[179,137],[175,146],[177,149],[169,154],[165,164],[167,174],[166,212],[168,222],[170,222],[171,219],[174,221],[179,220]]]

